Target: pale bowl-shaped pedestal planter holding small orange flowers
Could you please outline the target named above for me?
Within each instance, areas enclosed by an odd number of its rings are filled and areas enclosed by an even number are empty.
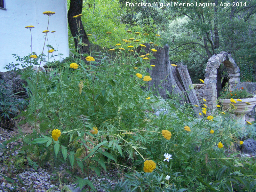
[[[224,109],[230,108],[234,114],[236,114],[237,119],[240,119],[243,124],[245,124],[245,114],[249,113],[252,108],[256,104],[256,97],[251,97],[251,98],[246,98],[246,99],[241,99],[242,101],[236,101],[236,103],[232,103],[230,99],[219,99],[221,105],[223,106]],[[250,103],[251,105],[247,105],[247,103]],[[236,108],[231,109],[230,103],[232,103]]]

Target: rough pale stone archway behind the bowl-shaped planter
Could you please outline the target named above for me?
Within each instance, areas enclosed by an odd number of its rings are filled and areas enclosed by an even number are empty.
[[[227,52],[220,52],[217,55],[213,55],[207,62],[205,69],[205,79],[204,79],[204,91],[203,96],[207,101],[207,107],[209,109],[216,109],[217,105],[217,69],[220,67],[220,64],[223,63],[226,66],[229,77],[229,89],[235,86],[240,82],[240,69],[238,68],[235,61],[230,57],[230,54]]]

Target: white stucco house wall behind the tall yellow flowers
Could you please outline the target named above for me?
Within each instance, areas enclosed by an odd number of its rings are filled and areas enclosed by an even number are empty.
[[[4,0],[4,4],[6,10],[0,9],[0,71],[6,71],[3,67],[11,62],[19,62],[12,53],[21,57],[30,53],[30,30],[26,26],[35,26],[31,29],[32,52],[39,55],[43,51],[45,34],[42,32],[47,29],[48,23],[48,15],[43,14],[45,11],[56,12],[50,16],[48,42],[64,54],[61,56],[63,59],[68,57],[67,0]],[[56,31],[54,35],[58,47],[51,31]],[[48,54],[47,51],[45,47],[44,54]]]

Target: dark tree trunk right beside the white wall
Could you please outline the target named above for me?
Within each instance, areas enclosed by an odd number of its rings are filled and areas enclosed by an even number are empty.
[[[77,42],[77,38],[74,38],[76,49],[80,49],[81,55],[87,53],[90,55],[90,46],[89,39],[85,33],[84,26],[81,21],[81,17],[73,18],[75,15],[79,15],[82,13],[83,8],[83,0],[70,0],[70,6],[68,10],[68,25],[73,37],[78,36],[78,28],[80,29],[80,39],[82,38],[82,42],[88,44],[88,46],[80,46]],[[76,23],[77,20],[77,23]],[[78,25],[78,26],[77,26]],[[82,56],[81,59],[85,58]]]

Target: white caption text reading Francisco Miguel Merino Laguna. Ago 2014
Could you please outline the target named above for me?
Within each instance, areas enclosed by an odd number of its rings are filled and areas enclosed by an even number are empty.
[[[215,3],[197,3],[193,4],[193,3],[179,3],[179,2],[171,2],[171,3],[160,3],[160,2],[153,2],[151,3],[129,3],[126,2],[126,7],[217,7],[218,5]],[[242,3],[242,2],[233,2],[233,3],[220,3],[219,4],[220,7],[243,7],[246,6],[246,3]]]

